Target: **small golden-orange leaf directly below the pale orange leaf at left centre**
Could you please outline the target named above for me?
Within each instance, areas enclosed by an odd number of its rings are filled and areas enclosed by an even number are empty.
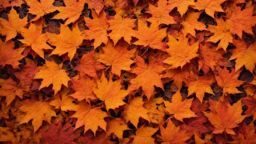
[[[61,92],[54,95],[54,100],[49,102],[50,105],[55,106],[55,109],[61,109],[61,111],[76,111],[79,107],[73,102],[75,99],[67,95],[70,89],[63,89]]]

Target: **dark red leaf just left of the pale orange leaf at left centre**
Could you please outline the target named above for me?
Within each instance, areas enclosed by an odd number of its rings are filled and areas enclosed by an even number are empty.
[[[15,72],[14,75],[19,80],[24,81],[27,84],[31,84],[35,74],[39,72],[39,68],[37,67],[37,64],[30,58],[25,57],[24,59],[26,64],[20,65],[21,71]]]

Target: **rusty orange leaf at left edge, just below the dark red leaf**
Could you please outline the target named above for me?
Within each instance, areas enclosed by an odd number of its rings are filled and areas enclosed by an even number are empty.
[[[29,85],[26,85],[25,82],[13,81],[11,78],[7,80],[0,79],[0,96],[5,96],[5,101],[7,106],[15,99],[16,95],[22,99],[24,91],[29,91]]]

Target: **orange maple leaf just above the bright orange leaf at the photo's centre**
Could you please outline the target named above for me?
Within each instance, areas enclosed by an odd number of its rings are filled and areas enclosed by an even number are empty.
[[[130,58],[135,56],[136,49],[128,51],[129,45],[119,43],[115,47],[111,42],[108,42],[106,47],[103,47],[104,54],[100,54],[97,59],[98,62],[111,66],[111,72],[115,75],[121,76],[121,70],[130,71],[130,65],[134,62]]]

